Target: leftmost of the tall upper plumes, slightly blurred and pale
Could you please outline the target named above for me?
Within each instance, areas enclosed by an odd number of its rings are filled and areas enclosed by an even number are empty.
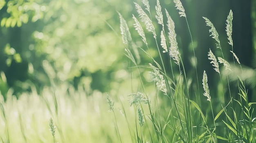
[[[132,37],[129,31],[128,25],[126,23],[126,20],[124,20],[123,16],[119,12],[117,13],[119,14],[119,18],[120,18],[120,30],[121,30],[123,43],[125,45],[128,45],[129,43],[132,42]]]

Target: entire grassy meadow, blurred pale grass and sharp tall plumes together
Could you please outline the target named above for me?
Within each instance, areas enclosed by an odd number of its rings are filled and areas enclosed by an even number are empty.
[[[148,0],[141,5],[134,2],[133,27],[118,12],[129,63],[129,73],[122,73],[127,80],[107,93],[94,90],[90,95],[88,86],[75,89],[65,82],[52,82],[39,94],[30,84],[31,92],[18,99],[10,89],[7,100],[0,100],[0,143],[256,143],[255,103],[248,99],[240,77],[246,70],[233,51],[232,10],[223,20],[229,47],[222,47],[214,22],[202,18],[209,28],[205,36],[216,43],[205,47],[209,50],[204,53],[215,72],[210,76],[217,81],[217,91],[211,91],[209,75],[197,67],[189,13],[180,0],[173,2],[190,33],[193,77],[184,66],[171,13],[162,9],[159,0],[155,5]],[[133,39],[129,29],[139,37]],[[159,56],[149,47],[155,47]],[[222,48],[229,48],[229,53]],[[232,61],[225,59],[227,54]],[[150,63],[141,64],[143,58]],[[234,75],[234,69],[240,75]],[[230,75],[236,77],[232,82]]]

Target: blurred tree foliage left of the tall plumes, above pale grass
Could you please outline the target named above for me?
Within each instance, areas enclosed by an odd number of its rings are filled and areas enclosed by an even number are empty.
[[[122,80],[115,74],[126,66],[120,62],[117,11],[128,13],[131,2],[1,0],[0,6],[3,88],[13,87],[18,94],[29,91],[31,83],[40,92],[43,86],[69,82],[105,92],[112,81]]]

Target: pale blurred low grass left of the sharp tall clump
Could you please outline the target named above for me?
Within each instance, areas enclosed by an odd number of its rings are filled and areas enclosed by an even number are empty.
[[[58,88],[45,87],[40,95],[33,90],[22,93],[19,99],[10,90],[7,101],[0,95],[0,143],[119,143],[115,119],[105,103],[105,93],[94,91],[86,95],[82,85],[78,90],[67,83]],[[128,102],[123,105],[130,107]],[[124,114],[135,116],[133,110],[123,111],[115,106],[120,103],[112,102],[112,107],[122,130],[121,139],[132,142],[126,136],[130,134],[127,125],[119,121]]]

